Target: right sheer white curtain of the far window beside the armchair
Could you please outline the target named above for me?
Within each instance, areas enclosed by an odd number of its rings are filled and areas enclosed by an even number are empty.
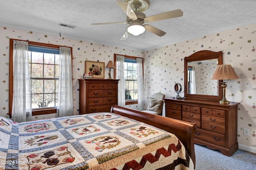
[[[142,70],[143,59],[137,58],[137,81],[138,81],[138,110],[144,109],[144,84],[143,84],[143,70]]]

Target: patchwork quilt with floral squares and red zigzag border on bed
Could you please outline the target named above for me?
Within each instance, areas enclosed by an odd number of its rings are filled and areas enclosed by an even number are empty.
[[[15,123],[0,117],[0,169],[188,170],[171,133],[114,113]]]

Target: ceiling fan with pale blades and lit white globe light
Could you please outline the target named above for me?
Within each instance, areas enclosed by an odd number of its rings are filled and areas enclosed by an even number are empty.
[[[133,35],[140,35],[141,33],[144,33],[145,30],[162,37],[166,34],[166,32],[148,24],[143,25],[143,23],[166,20],[181,17],[183,15],[181,10],[173,10],[146,17],[146,15],[142,12],[148,9],[150,5],[149,0],[118,0],[116,3],[126,13],[126,22],[92,23],[92,25],[130,24],[127,31],[121,37],[121,40],[127,39],[130,33]]]

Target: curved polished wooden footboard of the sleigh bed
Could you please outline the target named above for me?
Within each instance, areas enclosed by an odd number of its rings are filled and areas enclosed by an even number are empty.
[[[194,162],[194,167],[196,166],[196,155],[194,150],[194,134],[196,130],[195,123],[188,123],[117,105],[112,106],[110,112],[123,115],[173,133],[183,143],[190,155],[190,158]]]

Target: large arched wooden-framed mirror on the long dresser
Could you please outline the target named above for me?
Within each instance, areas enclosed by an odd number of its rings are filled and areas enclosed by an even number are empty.
[[[185,98],[222,99],[220,80],[211,80],[218,64],[222,64],[222,51],[198,51],[184,58]]]

